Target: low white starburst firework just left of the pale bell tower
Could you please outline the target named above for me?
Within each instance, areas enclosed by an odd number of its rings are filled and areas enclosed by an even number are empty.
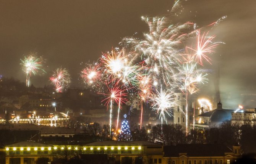
[[[173,100],[173,93],[165,92],[162,89],[160,92],[157,91],[157,94],[151,98],[152,108],[156,111],[157,114],[159,114],[159,119],[161,119],[162,133],[163,121],[165,121],[166,124],[168,123],[165,114],[171,116],[170,107],[172,104],[174,104]]]

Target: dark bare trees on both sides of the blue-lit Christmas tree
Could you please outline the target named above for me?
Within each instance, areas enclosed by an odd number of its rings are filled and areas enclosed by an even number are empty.
[[[117,139],[109,136],[109,126],[100,126],[98,123],[88,125],[85,132],[92,141]],[[178,124],[147,125],[140,129],[138,125],[132,125],[131,140],[162,142],[164,145],[177,144],[224,144],[230,148],[240,145],[244,153],[256,153],[256,126],[232,125],[226,121],[219,127],[214,128],[194,128],[186,136],[185,128]]]

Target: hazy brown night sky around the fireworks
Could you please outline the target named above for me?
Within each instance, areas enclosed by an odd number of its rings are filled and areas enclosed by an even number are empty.
[[[33,76],[34,86],[50,84],[49,74],[62,66],[70,70],[72,86],[81,87],[81,62],[95,61],[123,37],[141,37],[148,30],[141,16],[167,14],[172,5],[173,0],[0,0],[0,74],[25,82],[20,58],[36,51],[47,60],[48,74]],[[199,94],[211,98],[220,91],[222,101],[244,103],[239,95],[256,94],[256,1],[188,0],[183,7],[181,23],[205,26],[228,16],[211,31],[226,44],[211,56],[210,80]]]

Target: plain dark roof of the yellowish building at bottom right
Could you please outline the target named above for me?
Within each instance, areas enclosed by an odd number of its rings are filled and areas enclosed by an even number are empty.
[[[217,144],[179,144],[176,146],[164,146],[164,157],[179,157],[180,153],[186,156],[225,156],[225,153],[232,153],[232,150],[224,145]]]

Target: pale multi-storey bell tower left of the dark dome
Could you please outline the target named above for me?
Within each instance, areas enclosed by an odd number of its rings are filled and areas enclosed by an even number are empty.
[[[186,96],[184,93],[174,93],[175,104],[171,105],[173,123],[186,125]],[[188,117],[188,124],[190,123]]]

